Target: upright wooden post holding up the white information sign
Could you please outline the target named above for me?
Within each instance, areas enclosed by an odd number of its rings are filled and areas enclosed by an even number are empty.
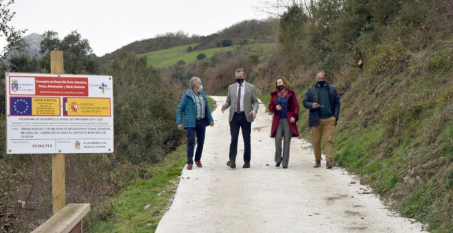
[[[65,73],[63,51],[50,52],[50,73]],[[65,154],[52,155],[52,206],[54,214],[66,206]]]

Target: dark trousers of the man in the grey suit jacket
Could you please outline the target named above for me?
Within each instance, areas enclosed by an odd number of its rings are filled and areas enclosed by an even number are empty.
[[[235,161],[237,155],[237,139],[239,138],[239,130],[242,130],[242,139],[244,139],[244,162],[250,162],[251,159],[251,142],[250,134],[252,132],[252,123],[248,122],[245,113],[235,113],[233,120],[230,121],[230,160]]]

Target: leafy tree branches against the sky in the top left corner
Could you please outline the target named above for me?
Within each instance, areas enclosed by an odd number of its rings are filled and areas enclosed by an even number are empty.
[[[14,14],[16,14],[16,12],[11,12],[9,9],[12,3],[14,3],[14,0],[9,0],[5,3],[0,0],[0,38],[4,36],[6,40],[6,45],[0,52],[1,58],[3,58],[6,51],[11,50],[22,41],[22,34],[27,31],[26,29],[19,30],[9,25]]]

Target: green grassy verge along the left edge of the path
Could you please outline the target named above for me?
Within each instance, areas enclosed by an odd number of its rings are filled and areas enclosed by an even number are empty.
[[[211,111],[216,101],[208,97]],[[104,201],[93,211],[97,216],[89,219],[102,219],[85,230],[89,232],[154,232],[172,204],[172,197],[178,186],[179,175],[186,162],[186,146],[179,147],[164,160],[146,168],[139,177],[133,179],[119,195]],[[110,205],[108,205],[110,203]],[[149,205],[149,206],[148,206]],[[148,207],[148,208],[146,208]]]

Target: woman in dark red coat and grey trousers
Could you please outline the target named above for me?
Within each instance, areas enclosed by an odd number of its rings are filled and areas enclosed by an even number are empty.
[[[269,110],[274,113],[270,137],[275,138],[275,167],[288,168],[291,137],[299,136],[299,102],[286,77],[277,77],[275,91],[270,93]],[[283,139],[283,151],[281,140]]]

